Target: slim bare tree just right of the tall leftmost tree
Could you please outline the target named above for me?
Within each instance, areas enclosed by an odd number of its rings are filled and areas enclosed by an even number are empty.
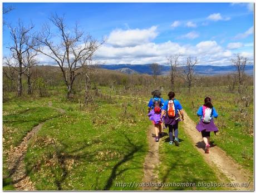
[[[24,58],[24,67],[26,69],[26,71],[24,72],[24,75],[27,76],[27,86],[28,86],[28,90],[27,93],[28,95],[31,95],[32,91],[31,91],[31,78],[32,78],[32,70],[31,68],[33,66],[35,66],[37,63],[39,63],[36,60],[36,56],[37,56],[37,51],[36,50],[27,50],[26,52],[26,56]]]

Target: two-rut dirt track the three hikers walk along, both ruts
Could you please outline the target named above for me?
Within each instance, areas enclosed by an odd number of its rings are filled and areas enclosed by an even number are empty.
[[[107,95],[109,96],[109,95]],[[127,98],[126,96],[117,96],[122,98]],[[147,101],[145,101],[147,102]],[[237,190],[253,190],[253,181],[250,181],[250,172],[243,169],[237,162],[235,162],[230,156],[226,154],[225,151],[220,149],[218,146],[210,147],[210,154],[204,154],[204,142],[202,141],[201,133],[195,128],[195,123],[191,118],[184,112],[183,121],[184,130],[190,136],[191,140],[197,147],[197,150],[203,155],[204,160],[209,166],[215,171],[216,175],[223,182],[227,179],[232,183],[249,183],[247,187],[235,187]],[[154,174],[154,168],[157,163],[159,163],[159,143],[155,143],[152,137],[153,127],[149,129],[147,137],[149,140],[149,152],[147,153],[144,162],[144,179],[143,182],[155,182],[157,174]],[[230,189],[230,188],[227,188]],[[144,190],[152,190],[151,187],[145,187]]]

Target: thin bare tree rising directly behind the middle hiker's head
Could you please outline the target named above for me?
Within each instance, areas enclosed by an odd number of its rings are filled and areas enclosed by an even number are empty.
[[[179,56],[172,56],[170,55],[167,57],[167,65],[170,66],[170,83],[171,83],[171,90],[174,91],[174,82],[175,78],[178,76],[178,69],[179,66]]]

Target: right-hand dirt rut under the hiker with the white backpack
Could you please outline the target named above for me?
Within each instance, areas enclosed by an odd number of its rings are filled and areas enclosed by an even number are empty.
[[[202,141],[201,133],[195,128],[195,123],[191,118],[184,112],[184,130],[190,136],[191,140],[197,147],[197,150],[203,155],[206,163],[217,169],[217,175],[221,178],[221,173],[228,177],[232,183],[248,183],[250,181],[248,175],[249,172],[242,169],[242,166],[237,164],[231,157],[229,157],[225,151],[220,149],[218,146],[210,147],[210,154],[204,154],[205,144]],[[237,187],[238,190],[253,190],[253,181],[250,182],[249,186]]]

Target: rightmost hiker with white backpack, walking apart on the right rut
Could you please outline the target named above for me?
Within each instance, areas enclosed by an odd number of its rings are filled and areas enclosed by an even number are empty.
[[[209,97],[204,99],[204,105],[199,107],[197,115],[200,116],[200,122],[196,125],[196,129],[201,132],[203,141],[205,142],[205,154],[209,154],[210,132],[213,131],[216,135],[216,132],[219,131],[213,121],[213,118],[218,117],[218,113]]]

